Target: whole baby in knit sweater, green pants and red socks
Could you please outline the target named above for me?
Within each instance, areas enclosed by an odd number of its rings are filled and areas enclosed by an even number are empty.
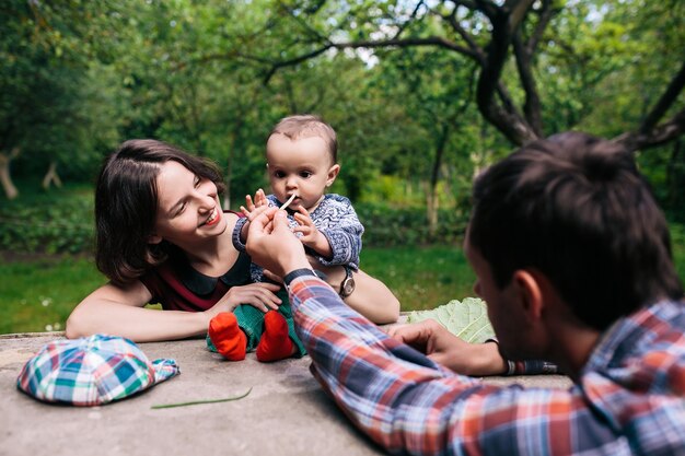
[[[245,197],[246,207],[241,207],[245,218],[235,224],[233,245],[241,252],[245,250],[249,219],[260,208],[276,206],[286,209],[291,227],[299,233],[307,253],[324,267],[344,267],[345,278],[338,293],[342,299],[350,296],[356,288],[352,272],[360,273],[359,253],[364,229],[349,199],[325,194],[340,171],[335,130],[316,116],[286,117],[269,135],[266,159],[274,194],[266,196],[259,189],[254,200],[251,196]],[[269,279],[264,277],[264,270],[255,264],[251,265],[251,274],[254,282]],[[321,276],[325,278],[324,273]],[[375,280],[365,274],[361,279],[364,283]],[[367,296],[363,293],[359,297],[365,303],[380,301],[398,308],[396,299],[382,282],[375,281],[371,287],[373,289],[381,291],[381,300],[378,300],[378,295],[373,299],[371,294]],[[233,326],[235,320],[229,315],[214,317],[209,325],[208,348],[229,360],[242,359],[243,354],[235,358],[232,353],[244,353],[243,347],[247,351],[256,349],[259,361],[303,355],[305,350],[294,331],[288,295],[281,290],[278,296],[282,301],[279,309],[266,315],[249,305],[237,306],[234,315],[240,330]],[[367,316],[373,317],[371,314]],[[240,346],[240,350],[236,350],[236,346]]]

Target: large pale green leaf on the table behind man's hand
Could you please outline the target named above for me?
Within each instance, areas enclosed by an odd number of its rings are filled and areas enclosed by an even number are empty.
[[[485,301],[478,297],[465,297],[461,302],[453,300],[432,311],[413,312],[407,320],[418,323],[428,318],[467,342],[481,343],[495,337]]]

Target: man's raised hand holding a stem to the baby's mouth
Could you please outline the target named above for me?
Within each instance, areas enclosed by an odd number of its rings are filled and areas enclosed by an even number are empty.
[[[247,254],[278,277],[300,268],[311,269],[300,239],[290,231],[286,211],[268,208],[249,223]]]

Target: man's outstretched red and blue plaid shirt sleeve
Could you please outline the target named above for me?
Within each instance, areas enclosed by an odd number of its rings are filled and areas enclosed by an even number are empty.
[[[576,387],[500,387],[454,374],[390,338],[325,282],[298,278],[289,291],[314,375],[391,453],[629,454]]]

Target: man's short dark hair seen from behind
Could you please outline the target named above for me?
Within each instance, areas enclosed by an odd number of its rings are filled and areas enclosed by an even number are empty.
[[[474,186],[468,242],[500,289],[535,268],[595,329],[683,296],[666,220],[632,155],[579,132],[524,145]]]

